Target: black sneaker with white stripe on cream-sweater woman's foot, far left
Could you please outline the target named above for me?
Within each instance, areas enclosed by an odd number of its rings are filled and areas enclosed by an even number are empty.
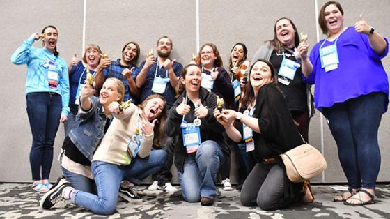
[[[62,190],[67,186],[72,186],[65,178],[59,178],[57,182],[52,186],[49,192],[46,192],[43,195],[42,199],[40,199],[40,207],[42,209],[50,209],[54,204],[59,202],[62,197]]]

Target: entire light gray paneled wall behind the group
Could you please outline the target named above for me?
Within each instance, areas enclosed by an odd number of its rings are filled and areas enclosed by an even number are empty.
[[[318,0],[320,8],[326,1]],[[59,29],[59,52],[65,61],[71,60],[77,52],[81,56],[82,27],[84,1],[34,1],[26,0],[4,1],[0,13],[3,22],[1,40],[3,53],[0,63],[3,66],[3,79],[0,82],[2,91],[0,97],[3,107],[0,108],[0,181],[30,181],[29,151],[31,148],[31,132],[26,115],[24,97],[24,80],[26,66],[15,66],[10,63],[10,55],[33,32],[40,32],[47,24],[54,24]],[[173,39],[174,59],[185,66],[196,52],[196,42],[214,43],[228,66],[228,56],[231,47],[237,43],[245,43],[249,50],[249,59],[265,40],[273,38],[274,22],[279,17],[290,17],[297,25],[299,32],[309,35],[309,43],[316,43],[315,1],[283,1],[261,0],[245,1],[242,4],[233,0],[199,0],[200,38],[196,39],[196,1],[91,1],[86,0],[86,36],[85,44],[95,43],[109,54],[111,60],[121,56],[120,50],[128,40],[135,40],[141,45],[139,63],[144,60],[144,54],[151,48],[159,36],[167,35]],[[345,25],[352,25],[364,14],[368,24],[375,27],[382,35],[390,36],[390,20],[388,12],[390,3],[386,0],[375,1],[341,1],[345,11]],[[318,8],[318,9],[319,9]],[[320,39],[324,38],[320,34]],[[37,47],[40,43],[35,43]],[[387,71],[390,70],[390,56],[383,59]],[[382,168],[378,181],[390,181],[386,171],[390,165],[390,115],[382,117],[379,132],[379,142],[382,152]],[[324,121],[324,149],[328,161],[325,172],[325,182],[345,182],[345,176],[338,161],[336,144]],[[320,112],[311,119],[309,140],[311,144],[321,149]],[[54,163],[51,179],[56,179],[61,173],[56,156],[63,142],[63,125],[60,125],[56,137]],[[232,156],[232,163],[237,160],[237,154]],[[231,178],[237,179],[237,167],[233,165]],[[174,178],[177,182],[177,177]],[[322,176],[313,179],[321,182]]]

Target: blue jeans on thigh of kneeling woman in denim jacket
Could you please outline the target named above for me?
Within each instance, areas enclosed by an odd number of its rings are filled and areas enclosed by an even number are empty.
[[[98,194],[98,191],[96,190],[96,184],[93,179],[89,179],[86,176],[76,174],[74,172],[68,171],[68,169],[65,169],[61,167],[62,173],[65,176],[65,179],[72,184],[72,187],[76,190],[81,190],[83,192],[88,192],[92,194]]]

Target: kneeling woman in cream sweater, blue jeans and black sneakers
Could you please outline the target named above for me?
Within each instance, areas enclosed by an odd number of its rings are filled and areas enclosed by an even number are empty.
[[[83,110],[88,111],[92,104],[85,106],[88,107]],[[113,102],[105,110],[109,110],[114,119],[93,154],[91,167],[98,195],[76,190],[67,181],[60,180],[42,198],[43,209],[51,208],[63,198],[94,213],[110,215],[116,210],[123,179],[145,179],[166,162],[165,151],[150,151],[153,142],[164,136],[166,101],[162,96],[149,96],[138,107],[130,104],[123,110],[118,102]]]

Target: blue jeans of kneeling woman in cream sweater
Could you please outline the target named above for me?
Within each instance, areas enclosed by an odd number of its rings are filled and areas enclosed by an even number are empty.
[[[147,158],[136,157],[127,166],[93,161],[92,173],[95,177],[98,195],[75,190],[72,202],[94,213],[110,215],[116,210],[120,181],[130,178],[145,179],[150,174],[159,171],[165,162],[166,152],[164,150],[150,151]]]

